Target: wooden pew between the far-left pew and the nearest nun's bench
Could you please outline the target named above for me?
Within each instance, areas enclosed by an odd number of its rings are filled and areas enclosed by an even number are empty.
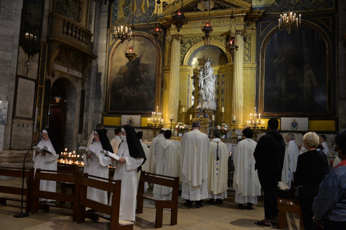
[[[63,182],[63,183],[73,183],[73,184],[75,184],[74,194],[41,191],[41,190],[39,190],[40,189],[40,180],[56,181],[56,182]],[[32,208],[31,214],[38,213],[38,209],[48,211],[50,206],[58,207],[58,208],[64,208],[64,209],[72,209],[73,210],[73,221],[76,221],[77,220],[77,208],[78,208],[78,200],[79,200],[78,198],[79,198],[79,192],[80,192],[80,188],[81,188],[81,181],[82,181],[82,173],[81,172],[59,172],[59,171],[52,171],[52,170],[37,169],[36,174],[35,174],[34,184],[33,184],[33,188],[34,188],[34,191],[33,191],[33,208]],[[71,203],[74,203],[74,206],[57,204],[57,203],[43,203],[43,204],[39,205],[39,203],[38,203],[39,198],[71,202]]]

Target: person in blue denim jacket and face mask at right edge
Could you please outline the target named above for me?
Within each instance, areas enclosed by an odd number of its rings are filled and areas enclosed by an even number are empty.
[[[324,230],[346,229],[346,131],[335,137],[333,150],[341,162],[323,179],[312,205],[313,220]]]

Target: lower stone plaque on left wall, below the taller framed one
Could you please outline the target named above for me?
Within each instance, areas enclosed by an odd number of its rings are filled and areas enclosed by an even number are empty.
[[[33,127],[34,121],[13,119],[10,149],[29,149],[33,140]]]

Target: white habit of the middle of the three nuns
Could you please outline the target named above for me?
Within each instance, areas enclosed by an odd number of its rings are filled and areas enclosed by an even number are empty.
[[[102,149],[101,142],[94,142],[89,146],[89,150],[93,151],[99,159],[86,159],[86,154],[83,154],[83,161],[85,164],[84,173],[89,173],[89,175],[100,176],[102,178],[108,179],[109,170],[108,165],[111,164],[111,159],[108,156],[100,153]],[[106,181],[106,180],[103,180]],[[107,191],[103,191],[100,189],[90,188],[88,187],[88,191],[86,193],[86,198],[108,204],[108,196]]]

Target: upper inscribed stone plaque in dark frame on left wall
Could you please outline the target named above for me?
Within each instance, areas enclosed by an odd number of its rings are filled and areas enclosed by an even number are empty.
[[[33,118],[35,82],[18,77],[16,117]]]

